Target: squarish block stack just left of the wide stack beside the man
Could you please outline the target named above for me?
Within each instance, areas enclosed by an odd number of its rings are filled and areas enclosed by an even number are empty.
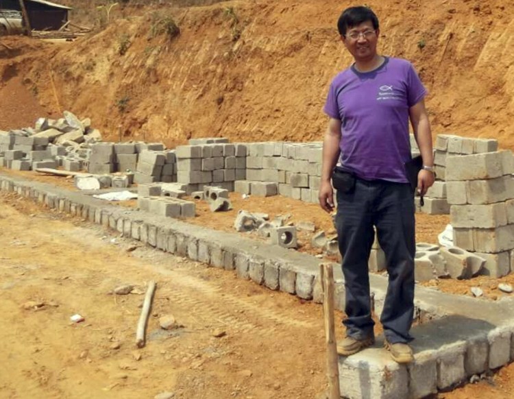
[[[204,185],[234,191],[234,182],[246,177],[247,149],[244,144],[180,145],[175,149],[175,156],[177,182],[187,184],[188,194],[203,191]]]

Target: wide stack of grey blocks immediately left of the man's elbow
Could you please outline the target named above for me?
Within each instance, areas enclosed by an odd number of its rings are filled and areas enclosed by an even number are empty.
[[[276,186],[280,195],[315,203],[321,182],[321,143],[249,143],[246,176],[250,183],[238,183],[239,193],[270,195]],[[262,184],[253,182],[268,184],[262,189]]]

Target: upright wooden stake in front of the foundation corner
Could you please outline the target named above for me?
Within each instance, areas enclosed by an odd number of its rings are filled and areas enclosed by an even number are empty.
[[[328,399],[341,398],[339,389],[339,363],[336,349],[334,326],[334,270],[332,265],[319,265],[319,278],[323,288],[323,319],[325,321],[325,341],[327,346]]]

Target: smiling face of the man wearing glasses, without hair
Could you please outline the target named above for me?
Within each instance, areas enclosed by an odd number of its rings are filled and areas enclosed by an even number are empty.
[[[372,60],[376,56],[379,29],[374,29],[371,21],[349,27],[341,40],[356,61]]]

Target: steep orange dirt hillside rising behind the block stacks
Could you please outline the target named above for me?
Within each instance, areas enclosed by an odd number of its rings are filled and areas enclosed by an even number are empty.
[[[495,137],[514,148],[514,3],[367,4],[381,21],[381,53],[411,60],[428,87],[435,133]],[[110,138],[317,141],[328,84],[351,62],[335,28],[346,5],[128,6],[73,43],[4,38],[13,50],[0,47],[0,97],[18,77],[47,113],[91,117]],[[171,19],[178,36],[169,33]],[[21,127],[7,119],[0,128]]]

